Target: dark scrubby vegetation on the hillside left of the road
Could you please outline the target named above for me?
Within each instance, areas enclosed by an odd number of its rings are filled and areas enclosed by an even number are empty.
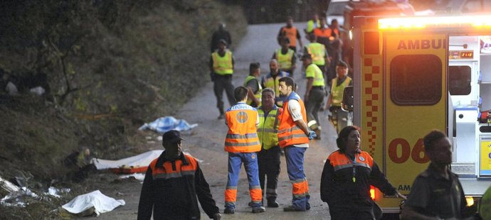
[[[0,89],[0,176],[31,173],[37,190],[71,184],[62,161],[76,150],[139,153],[137,128],[173,114],[209,81],[218,22],[234,42],[247,26],[241,6],[213,0],[7,0],[0,12],[0,75],[21,91]],[[46,94],[29,94],[39,85]],[[58,206],[33,204],[0,206],[0,219],[48,218]]]

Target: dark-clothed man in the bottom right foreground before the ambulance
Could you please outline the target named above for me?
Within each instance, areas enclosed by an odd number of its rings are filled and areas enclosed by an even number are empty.
[[[445,133],[433,130],[423,138],[431,163],[411,185],[401,219],[473,219],[475,206],[468,207],[452,163],[452,145]]]

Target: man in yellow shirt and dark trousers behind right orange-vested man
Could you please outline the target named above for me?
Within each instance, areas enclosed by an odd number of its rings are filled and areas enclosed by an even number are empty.
[[[319,109],[322,105],[322,100],[326,95],[324,76],[322,70],[312,62],[310,54],[306,53],[302,56],[302,64],[305,68],[305,77],[307,77],[307,90],[305,92],[305,111],[307,112],[307,126],[312,131],[315,131],[320,140]]]

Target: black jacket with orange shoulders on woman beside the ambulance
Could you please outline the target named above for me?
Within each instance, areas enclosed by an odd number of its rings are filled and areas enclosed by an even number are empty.
[[[379,188],[384,194],[396,194],[396,188],[387,181],[369,153],[361,151],[355,158],[355,166],[353,160],[339,150],[327,158],[322,170],[320,196],[329,207],[371,204],[370,185]]]

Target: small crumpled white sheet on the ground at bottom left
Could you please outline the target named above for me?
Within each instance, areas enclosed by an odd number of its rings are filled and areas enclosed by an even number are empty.
[[[119,206],[124,206],[125,204],[125,200],[123,199],[116,200],[111,197],[107,197],[99,190],[96,190],[94,192],[75,197],[75,199],[72,199],[72,201],[64,204],[63,209],[66,209],[66,211],[73,214],[79,214],[87,209],[90,209],[91,207],[94,207],[95,214],[98,216],[101,213],[112,211],[112,209]]]

